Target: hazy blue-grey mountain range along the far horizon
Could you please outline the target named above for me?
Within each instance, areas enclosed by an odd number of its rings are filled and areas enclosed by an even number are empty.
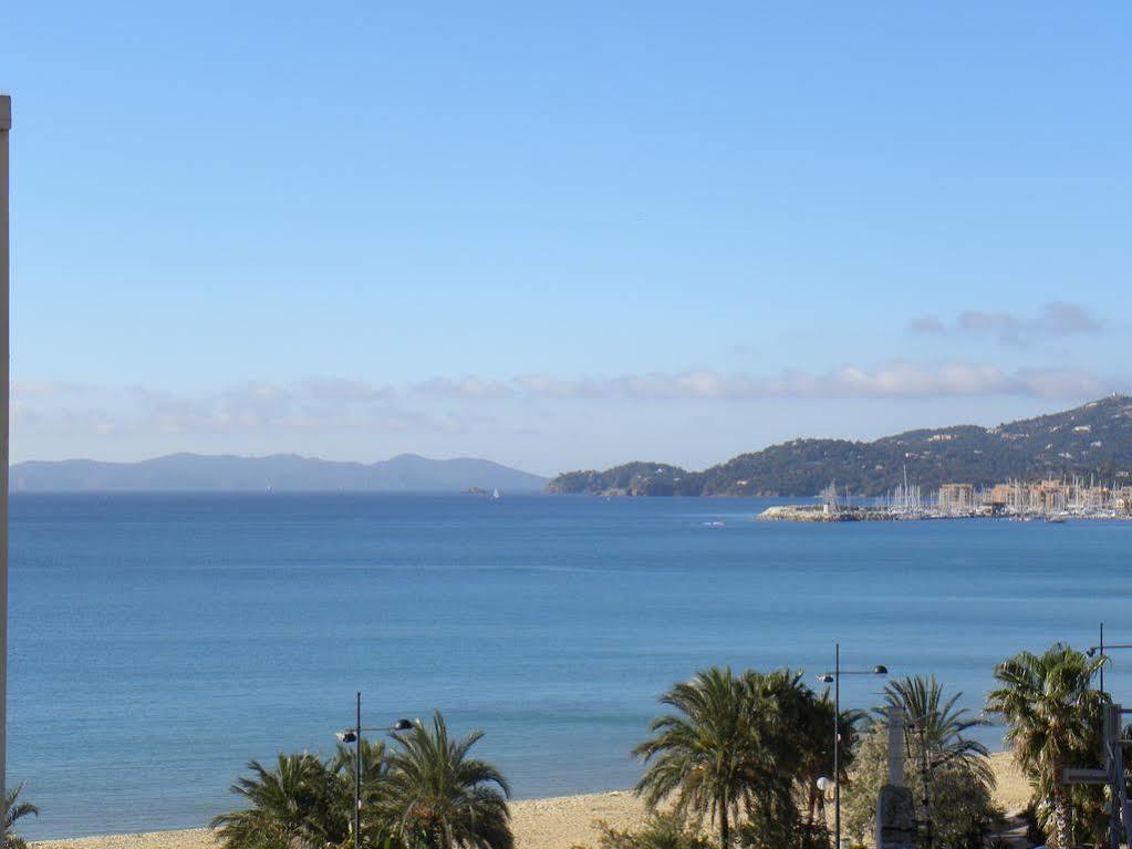
[[[79,491],[461,491],[541,490],[546,478],[487,460],[402,454],[380,463],[338,463],[295,454],[266,457],[170,454],[138,463],[31,461],[11,468],[14,492]]]

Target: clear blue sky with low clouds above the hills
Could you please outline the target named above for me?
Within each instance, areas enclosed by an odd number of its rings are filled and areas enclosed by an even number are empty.
[[[2,41],[14,460],[703,466],[1132,388],[1124,2],[17,1]]]

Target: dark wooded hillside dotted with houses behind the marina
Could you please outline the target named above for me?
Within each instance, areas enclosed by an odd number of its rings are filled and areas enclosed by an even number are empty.
[[[663,463],[559,474],[552,492],[640,496],[813,496],[831,481],[877,496],[903,479],[992,486],[1079,474],[1132,484],[1132,398],[1114,395],[1065,412],[996,428],[909,430],[872,443],[794,439],[688,472]]]

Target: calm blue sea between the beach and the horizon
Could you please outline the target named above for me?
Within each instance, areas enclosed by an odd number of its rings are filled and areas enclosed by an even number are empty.
[[[709,663],[813,680],[840,640],[848,668],[934,672],[978,707],[1019,649],[1100,620],[1132,642],[1132,524],[754,522],[765,504],[16,496],[24,831],[203,825],[249,758],[331,751],[357,689],[368,724],[483,729],[525,797],[631,784],[658,694]],[[1132,703],[1132,653],[1108,681]]]

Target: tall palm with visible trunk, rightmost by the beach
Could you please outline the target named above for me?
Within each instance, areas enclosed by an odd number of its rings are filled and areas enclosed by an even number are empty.
[[[1020,652],[995,669],[1002,686],[987,697],[987,709],[1010,723],[1006,740],[1018,764],[1035,782],[1047,832],[1060,847],[1072,846],[1072,796],[1062,780],[1066,766],[1095,764],[1100,755],[1104,705],[1092,689],[1104,658],[1088,659],[1063,643],[1045,654]]]

